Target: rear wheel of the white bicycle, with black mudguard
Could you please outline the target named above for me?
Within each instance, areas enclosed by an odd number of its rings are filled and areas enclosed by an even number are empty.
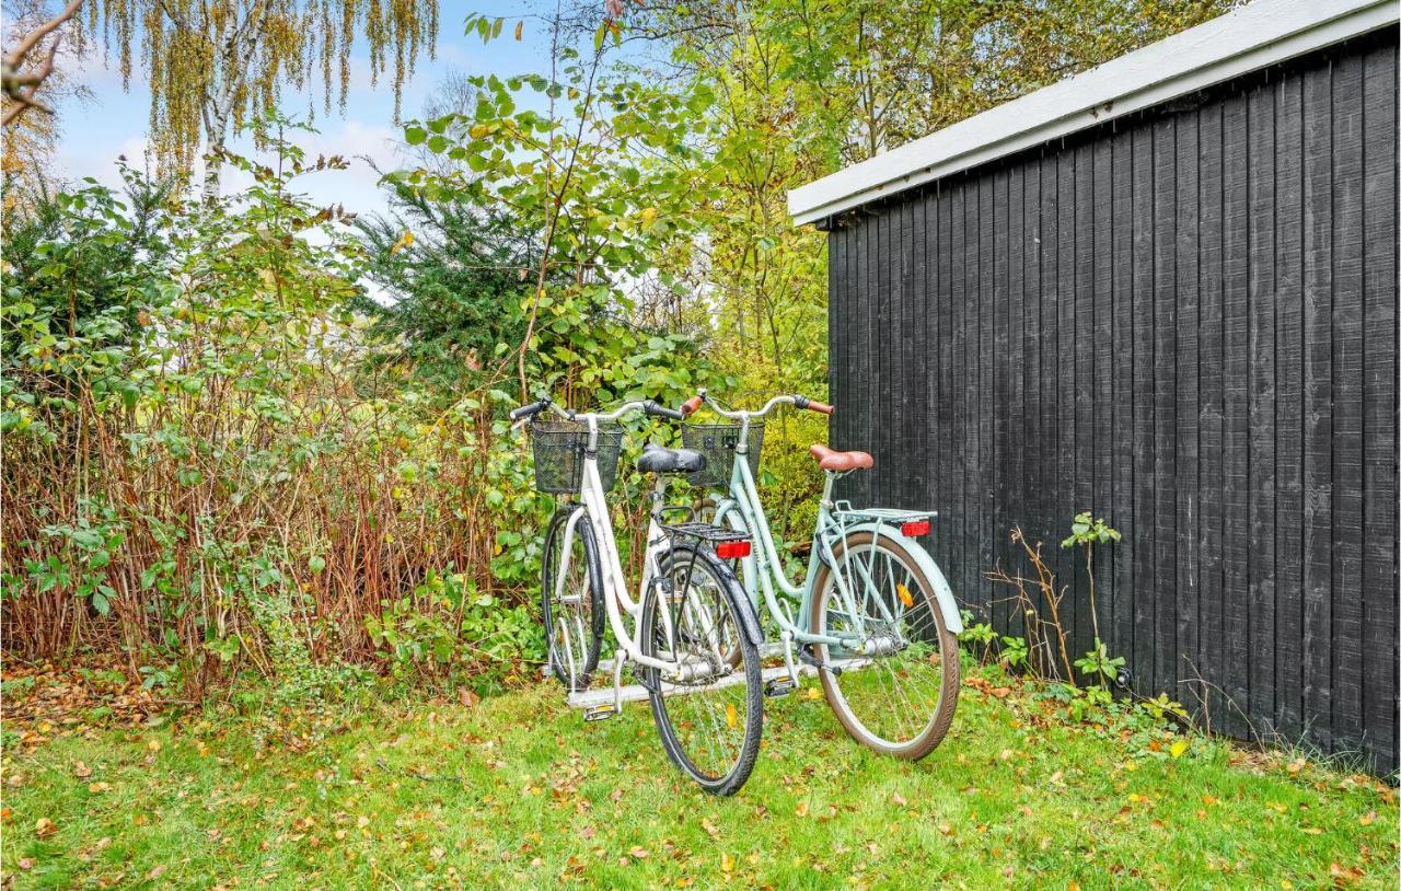
[[[661,573],[671,590],[649,594],[642,649],[686,677],[644,671],[651,717],[672,764],[706,792],[731,796],[750,779],[764,733],[759,650],[745,633],[752,607],[734,573],[699,546],[672,548]]]

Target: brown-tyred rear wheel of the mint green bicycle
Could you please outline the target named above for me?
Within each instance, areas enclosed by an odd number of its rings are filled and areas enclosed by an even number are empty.
[[[877,752],[918,761],[948,733],[958,703],[958,642],[944,623],[933,584],[904,542],[870,532],[834,548],[838,574],[821,565],[811,628],[860,637],[866,653],[814,644],[827,703],[846,733]]]

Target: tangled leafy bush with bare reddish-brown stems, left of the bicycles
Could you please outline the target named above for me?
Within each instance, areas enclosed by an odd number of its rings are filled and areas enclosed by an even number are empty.
[[[231,158],[245,193],[164,192],[165,251],[140,247],[153,210],[94,185],[7,270],[7,647],[120,650],[188,695],[248,664],[310,698],[343,679],[317,665],[392,665],[367,625],[443,567],[520,602],[538,546],[502,584],[499,528],[534,541],[541,509],[492,395],[426,392],[367,336],[346,308],[364,263],[349,214],[293,192],[338,161],[263,137],[276,164]],[[413,602],[472,633],[462,609]]]

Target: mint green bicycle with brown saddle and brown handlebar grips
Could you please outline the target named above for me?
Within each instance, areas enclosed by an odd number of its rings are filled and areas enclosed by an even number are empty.
[[[814,444],[811,454],[827,482],[807,574],[801,583],[792,581],[754,479],[764,443],[762,417],[779,405],[824,415],[831,415],[832,406],[793,395],[745,412],[720,405],[702,389],[682,412],[693,415],[702,405],[736,422],[688,423],[682,441],[706,458],[705,468],[691,475],[693,485],[729,485],[709,502],[712,521],[754,541],[751,553],[738,560],[738,574],[751,597],[762,591],[779,637],[766,653],[782,653],[786,667],[785,675],[768,679],[765,695],[787,695],[801,675],[817,674],[828,705],[855,740],[895,758],[923,758],[953,723],[957,635],[962,630],[948,581],[915,541],[929,534],[937,513],[834,502],[835,482],[870,468],[873,460],[863,451]]]

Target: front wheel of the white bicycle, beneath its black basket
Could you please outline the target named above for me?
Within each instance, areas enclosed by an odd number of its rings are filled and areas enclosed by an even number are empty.
[[[580,514],[567,544],[569,518]],[[569,566],[565,567],[565,558]],[[563,574],[562,574],[563,569]],[[549,646],[549,670],[569,691],[588,686],[602,644],[602,563],[594,528],[579,504],[555,511],[541,558],[541,618]]]

